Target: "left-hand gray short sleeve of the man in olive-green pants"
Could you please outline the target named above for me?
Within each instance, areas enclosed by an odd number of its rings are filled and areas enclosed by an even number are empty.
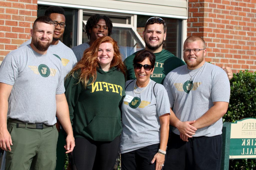
[[[0,82],[14,85],[19,74],[19,64],[10,53],[4,58],[0,65]]]

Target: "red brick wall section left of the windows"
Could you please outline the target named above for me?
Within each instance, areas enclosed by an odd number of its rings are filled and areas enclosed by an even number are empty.
[[[0,0],[0,64],[27,39],[37,18],[37,0]]]

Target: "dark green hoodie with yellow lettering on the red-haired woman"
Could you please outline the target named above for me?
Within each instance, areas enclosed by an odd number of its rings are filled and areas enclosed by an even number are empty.
[[[125,95],[124,74],[112,67],[105,72],[97,70],[95,82],[84,89],[78,82],[78,73],[65,81],[66,98],[74,137],[94,141],[112,141],[122,131],[119,104]]]

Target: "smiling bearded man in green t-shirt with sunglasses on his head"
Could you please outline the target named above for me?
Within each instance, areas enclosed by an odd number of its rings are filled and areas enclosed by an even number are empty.
[[[166,25],[165,21],[159,17],[151,17],[147,20],[145,24],[145,29],[143,31],[143,38],[146,44],[145,50],[148,50],[155,54],[156,63],[155,70],[151,74],[150,79],[157,83],[163,84],[165,76],[173,69],[185,65],[184,61],[175,57],[169,51],[163,49],[163,42],[166,40]],[[137,51],[138,52],[138,51]],[[127,67],[127,80],[134,80],[134,68],[133,59],[134,54],[130,55],[124,60]],[[228,74],[229,80],[232,79],[233,74],[229,67],[222,67]]]

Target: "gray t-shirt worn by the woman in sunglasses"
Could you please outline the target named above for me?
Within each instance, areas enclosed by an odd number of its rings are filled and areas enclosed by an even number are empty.
[[[134,80],[125,83],[125,87],[129,84],[125,89],[126,96],[129,95],[133,99],[130,102],[124,99],[122,102],[121,153],[160,142],[159,116],[170,113],[170,104],[164,86],[155,83],[151,80],[148,87],[140,94],[133,91]],[[144,87],[138,88],[136,84],[135,87],[138,92],[144,89]]]

